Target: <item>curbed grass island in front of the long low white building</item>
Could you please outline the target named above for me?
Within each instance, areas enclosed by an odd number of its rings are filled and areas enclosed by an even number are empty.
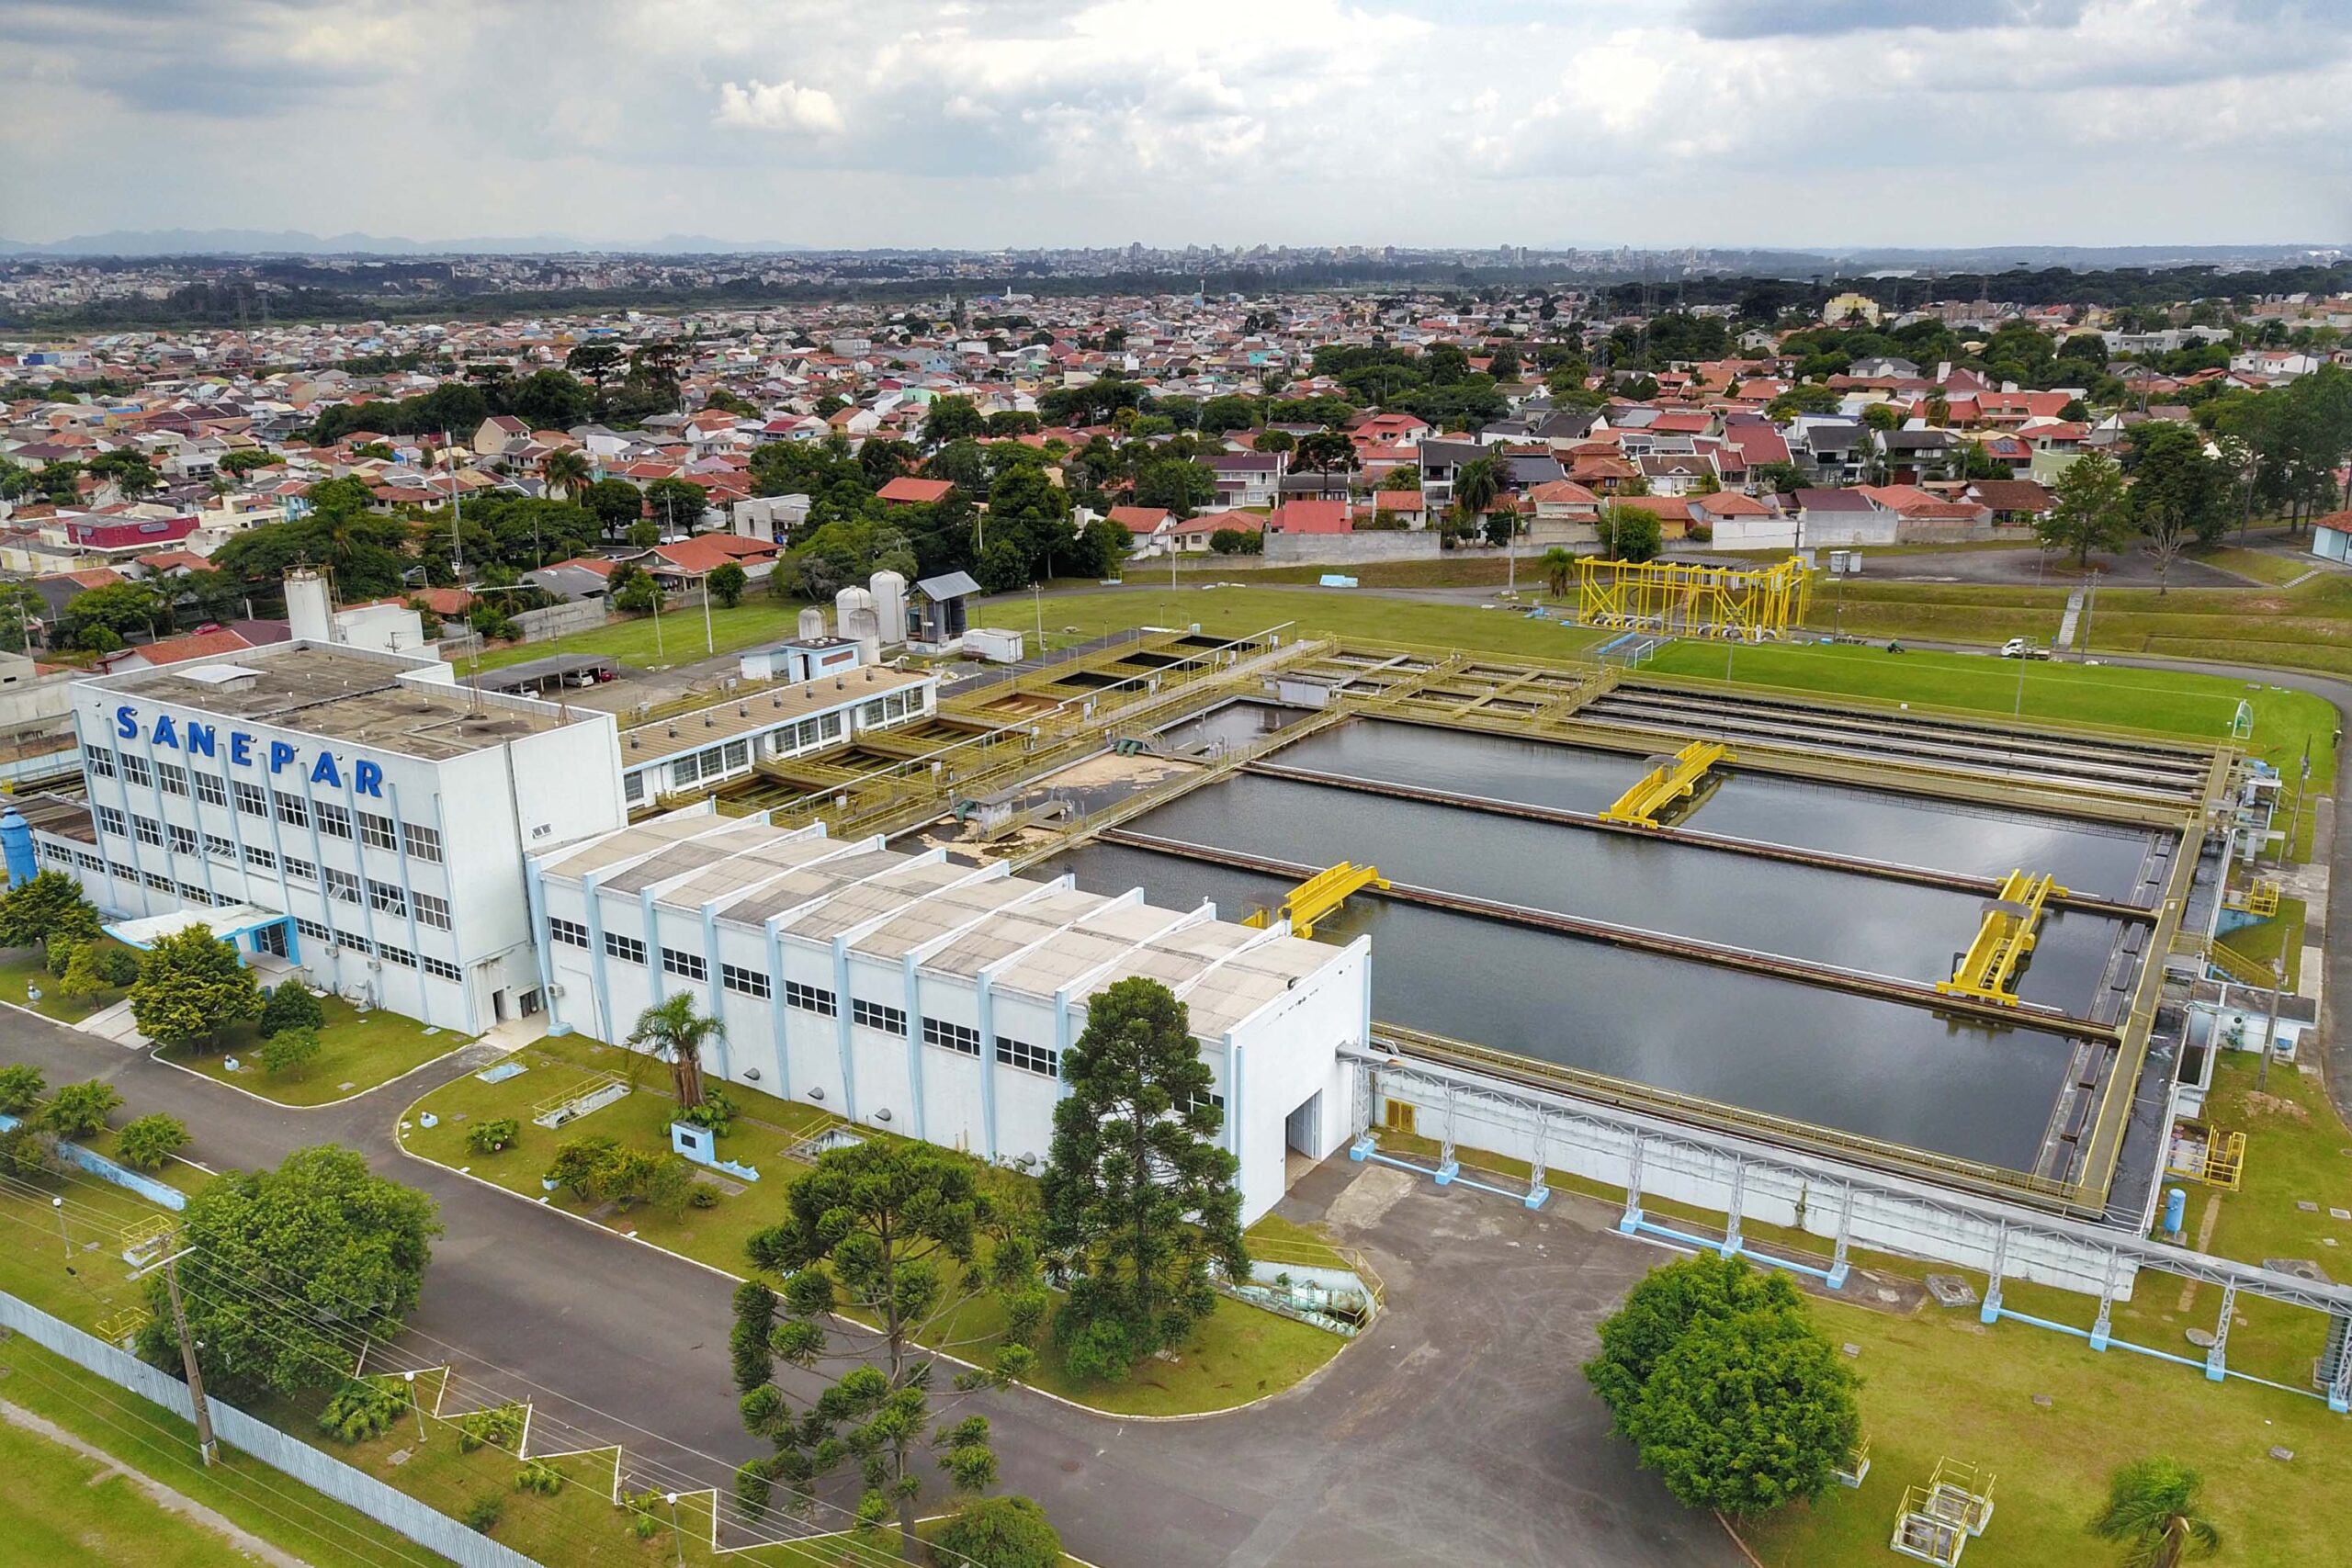
[[[402,1147],[423,1159],[440,1161],[480,1175],[524,1199],[579,1213],[614,1232],[635,1237],[682,1258],[694,1258],[727,1274],[748,1274],[743,1244],[783,1215],[783,1194],[793,1178],[807,1171],[790,1159],[790,1150],[802,1138],[833,1126],[835,1117],[809,1105],[779,1100],[741,1084],[729,1084],[743,1114],[720,1140],[720,1159],[746,1164],[760,1171],[757,1182],[734,1182],[739,1192],[722,1192],[713,1208],[682,1208],[661,1213],[654,1208],[630,1208],[614,1213],[583,1204],[564,1190],[548,1192],[541,1175],[555,1159],[555,1150],[574,1138],[616,1138],[626,1147],[647,1152],[670,1147],[670,1117],[677,1103],[668,1093],[668,1070],[647,1065],[642,1056],[614,1046],[600,1046],[579,1037],[546,1039],[510,1060],[527,1070],[499,1084],[485,1084],[477,1074],[442,1084],[423,1095],[402,1117]],[[532,1107],[557,1095],[593,1072],[635,1072],[637,1088],[623,1100],[590,1112],[588,1117],[548,1131],[532,1124]],[[433,1114],[437,1126],[423,1126],[421,1117]],[[510,1117],[522,1124],[513,1145],[496,1154],[475,1154],[466,1147],[466,1128],[485,1119]],[[866,1135],[870,1128],[861,1128]],[[1016,1182],[1018,1175],[1004,1173]],[[1272,1234],[1272,1232],[1265,1232]],[[1298,1244],[1284,1234],[1284,1241]],[[938,1349],[985,1361],[1002,1338],[1002,1316],[993,1300],[976,1300],[957,1309],[934,1335]],[[1120,1385],[1084,1382],[1063,1366],[1058,1349],[1047,1340],[1037,1354],[1037,1371],[1030,1382],[1049,1394],[1073,1399],[1120,1415],[1192,1415],[1247,1403],[1261,1394],[1279,1392],[1338,1354],[1343,1340],[1305,1324],[1263,1312],[1247,1302],[1218,1298],[1216,1312],[1202,1321],[1188,1345],[1176,1347],[1174,1361],[1150,1361]]]

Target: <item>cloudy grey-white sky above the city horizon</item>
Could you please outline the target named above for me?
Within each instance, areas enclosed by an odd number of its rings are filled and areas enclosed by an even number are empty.
[[[2352,235],[2352,0],[0,0],[0,235]]]

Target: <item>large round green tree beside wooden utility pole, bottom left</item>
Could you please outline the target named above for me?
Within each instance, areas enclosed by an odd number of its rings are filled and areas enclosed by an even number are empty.
[[[353,1328],[390,1340],[416,1309],[437,1234],[433,1199],[336,1145],[212,1178],[179,1218],[179,1244],[200,1258],[179,1284],[207,1387],[223,1399],[341,1387]],[[176,1368],[162,1274],[148,1307],[139,1352]]]

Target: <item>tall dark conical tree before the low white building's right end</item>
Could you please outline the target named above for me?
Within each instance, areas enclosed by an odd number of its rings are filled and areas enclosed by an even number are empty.
[[[1054,1338],[1077,1375],[1120,1380],[1216,1307],[1211,1265],[1249,1274],[1240,1161],[1216,1145],[1225,1112],[1190,1013],[1157,980],[1098,992],[1061,1067],[1040,1185],[1044,1246],[1070,1279]]]

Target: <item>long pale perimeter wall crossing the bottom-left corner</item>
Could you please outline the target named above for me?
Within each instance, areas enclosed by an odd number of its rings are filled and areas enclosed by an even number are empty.
[[[195,1401],[188,1385],[158,1371],[113,1345],[61,1324],[40,1307],[0,1293],[0,1328],[12,1328],[35,1345],[52,1349],[87,1373],[139,1394],[141,1399],[172,1410],[181,1420],[195,1420]],[[278,1427],[254,1420],[219,1399],[205,1399],[212,1408],[212,1432],[219,1441],[254,1455],[303,1486],[343,1502],[388,1530],[407,1535],[419,1547],[447,1556],[461,1568],[539,1568],[536,1559],[501,1547],[487,1535],[468,1530],[447,1514],[416,1502],[402,1490],[376,1481],[362,1469],[353,1469],[332,1453],[320,1453],[310,1443],[287,1436]]]

